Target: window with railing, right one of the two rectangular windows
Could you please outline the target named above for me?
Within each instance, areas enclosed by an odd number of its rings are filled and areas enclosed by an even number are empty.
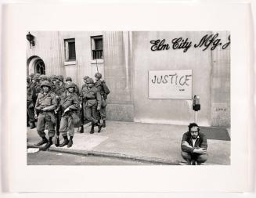
[[[103,59],[103,36],[92,37],[92,59]]]

